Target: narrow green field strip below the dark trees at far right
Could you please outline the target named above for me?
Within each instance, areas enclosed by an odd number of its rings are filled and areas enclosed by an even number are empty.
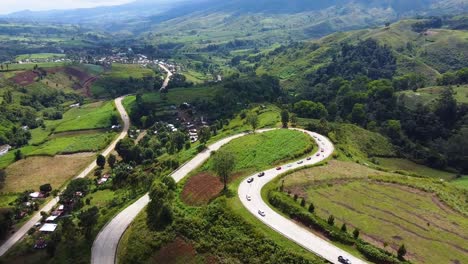
[[[417,175],[432,177],[436,179],[452,180],[455,178],[455,173],[450,173],[446,171],[440,171],[426,167],[424,165],[419,165],[410,160],[406,159],[385,159],[377,158],[379,166],[396,170],[396,171],[407,171]]]

